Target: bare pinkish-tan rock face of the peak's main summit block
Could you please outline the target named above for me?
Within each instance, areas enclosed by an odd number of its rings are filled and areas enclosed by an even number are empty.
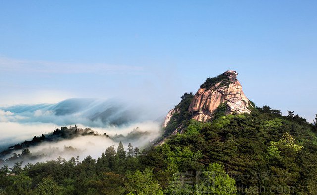
[[[213,78],[213,81],[216,82],[218,79],[219,82],[211,83],[210,86],[202,84],[188,108],[192,118],[201,122],[210,121],[222,103],[226,104],[227,114],[250,113],[252,104],[243,93],[237,75],[236,71],[228,70],[217,78]]]

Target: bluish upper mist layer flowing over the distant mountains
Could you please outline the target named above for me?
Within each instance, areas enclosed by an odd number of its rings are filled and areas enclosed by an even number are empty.
[[[127,103],[113,99],[73,98],[56,104],[0,107],[0,122],[40,122],[58,126],[78,123],[90,127],[107,127],[157,120],[162,114],[141,103]]]

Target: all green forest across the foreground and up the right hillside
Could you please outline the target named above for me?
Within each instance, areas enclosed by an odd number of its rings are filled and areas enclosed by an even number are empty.
[[[190,97],[182,97],[181,110]],[[3,166],[0,194],[317,194],[317,124],[269,106],[227,116],[220,107],[211,123],[179,113],[183,133],[142,152],[120,143],[97,160]]]

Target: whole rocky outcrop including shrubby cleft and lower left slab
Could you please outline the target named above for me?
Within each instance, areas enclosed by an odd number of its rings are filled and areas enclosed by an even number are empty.
[[[237,75],[236,71],[228,70],[217,77],[207,78],[195,96],[185,93],[181,97],[181,102],[165,117],[162,125],[163,138],[159,139],[155,146],[164,143],[171,135],[183,133],[183,122],[187,119],[211,121],[220,105],[221,113],[250,113],[254,104],[244,95]],[[170,123],[171,120],[174,120],[173,123]]]

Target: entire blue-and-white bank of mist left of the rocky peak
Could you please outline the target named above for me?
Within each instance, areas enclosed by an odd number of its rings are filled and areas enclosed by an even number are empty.
[[[115,148],[121,141],[125,148],[143,148],[161,135],[162,113],[141,104],[132,105],[120,100],[73,98],[56,104],[15,105],[0,108],[0,150],[30,141],[34,136],[47,135],[56,128],[74,126],[91,128],[94,135],[44,141],[30,146],[33,159],[23,159],[23,164],[45,162],[58,157],[70,159],[88,155],[98,158],[107,147]],[[107,136],[104,136],[106,133]],[[14,150],[1,159],[5,160]],[[12,166],[14,161],[10,162]]]

